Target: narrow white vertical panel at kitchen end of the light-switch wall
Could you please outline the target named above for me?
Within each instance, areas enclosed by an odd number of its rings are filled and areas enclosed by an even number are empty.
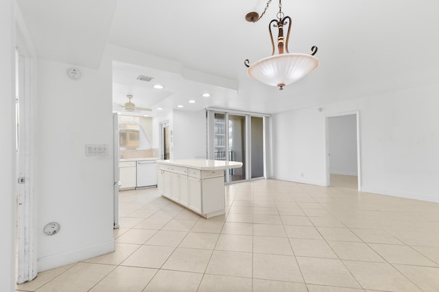
[[[117,114],[112,114],[112,130],[113,130],[113,223],[114,228],[119,228],[119,186],[121,183],[119,182],[119,156],[120,156],[120,147],[119,147],[119,118]]]

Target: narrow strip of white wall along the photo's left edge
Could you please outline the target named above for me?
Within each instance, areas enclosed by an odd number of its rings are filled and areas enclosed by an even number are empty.
[[[0,290],[15,291],[15,96],[13,1],[0,1]]]

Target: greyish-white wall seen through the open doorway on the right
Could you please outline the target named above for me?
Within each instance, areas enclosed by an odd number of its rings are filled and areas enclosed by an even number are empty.
[[[329,118],[330,171],[357,175],[357,116],[349,114]]]

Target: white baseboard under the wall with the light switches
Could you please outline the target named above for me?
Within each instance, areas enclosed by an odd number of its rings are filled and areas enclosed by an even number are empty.
[[[45,256],[38,258],[38,272],[46,271],[48,269],[54,269],[63,265],[69,265],[71,263],[79,262],[80,260],[86,260],[87,258],[94,258],[95,256],[102,256],[102,254],[108,254],[115,251],[115,241],[106,241],[97,245],[84,247],[79,250],[72,250],[64,252],[62,254],[54,254],[51,256]]]

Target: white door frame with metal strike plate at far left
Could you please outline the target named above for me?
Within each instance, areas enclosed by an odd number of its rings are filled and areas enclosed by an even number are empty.
[[[19,110],[19,149],[16,155],[17,195],[17,274],[21,284],[33,280],[37,275],[37,253],[35,250],[36,226],[34,204],[34,107],[32,99],[34,64],[32,58],[16,48],[16,100]],[[24,182],[19,183],[19,178]]]

